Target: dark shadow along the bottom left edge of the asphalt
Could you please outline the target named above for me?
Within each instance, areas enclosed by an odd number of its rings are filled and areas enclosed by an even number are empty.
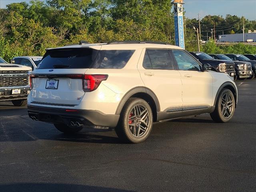
[[[16,183],[1,184],[0,192],[134,192],[115,188],[100,186],[78,185],[78,184],[53,184],[53,183]]]

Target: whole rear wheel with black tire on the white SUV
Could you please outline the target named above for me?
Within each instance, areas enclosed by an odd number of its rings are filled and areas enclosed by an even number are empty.
[[[115,131],[124,142],[140,143],[148,138],[152,124],[153,114],[149,104],[140,98],[129,98],[121,111]]]

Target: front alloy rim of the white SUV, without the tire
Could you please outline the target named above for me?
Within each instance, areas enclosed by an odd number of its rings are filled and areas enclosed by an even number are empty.
[[[228,119],[232,116],[234,110],[234,101],[229,93],[222,96],[221,100],[221,113],[224,118]]]

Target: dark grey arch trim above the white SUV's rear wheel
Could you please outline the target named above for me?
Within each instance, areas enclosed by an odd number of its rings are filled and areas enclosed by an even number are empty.
[[[120,114],[122,108],[126,104],[129,98],[141,98],[144,99],[150,105],[153,113],[153,121],[157,120],[157,112],[160,112],[160,104],[156,94],[146,87],[135,87],[129,90],[121,99],[116,109],[116,114]]]

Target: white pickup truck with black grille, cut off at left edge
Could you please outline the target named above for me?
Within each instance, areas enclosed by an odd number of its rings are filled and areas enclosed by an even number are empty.
[[[31,67],[9,64],[0,58],[0,101],[12,101],[15,106],[26,105],[31,72]]]

